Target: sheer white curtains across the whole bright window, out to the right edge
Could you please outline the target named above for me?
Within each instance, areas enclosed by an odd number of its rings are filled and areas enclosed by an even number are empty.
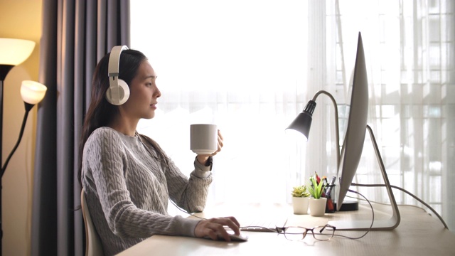
[[[280,203],[317,171],[336,175],[333,105],[316,100],[309,142],[284,129],[318,90],[331,92],[346,130],[348,85],[363,36],[368,123],[391,183],[454,227],[454,6],[451,1],[132,0],[132,48],[156,70],[156,117],[139,132],[189,173],[189,125],[215,123],[210,201]],[[382,183],[370,138],[355,181]],[[387,201],[382,188],[358,188]],[[395,191],[399,203],[417,204]]]

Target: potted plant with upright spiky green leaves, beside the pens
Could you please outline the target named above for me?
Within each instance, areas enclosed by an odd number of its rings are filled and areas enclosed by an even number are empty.
[[[326,178],[319,178],[316,172],[310,176],[310,184],[307,186],[311,195],[309,208],[311,216],[322,216],[326,213],[327,198],[323,197],[326,188]]]

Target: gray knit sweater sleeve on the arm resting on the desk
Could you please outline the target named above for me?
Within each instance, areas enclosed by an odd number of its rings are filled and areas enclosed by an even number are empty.
[[[172,217],[138,208],[127,188],[129,161],[122,140],[112,129],[97,129],[85,145],[87,169],[92,173],[105,220],[122,238],[148,238],[154,234],[194,236],[199,220]],[[175,175],[174,175],[175,176]],[[137,182],[141,182],[139,180]]]

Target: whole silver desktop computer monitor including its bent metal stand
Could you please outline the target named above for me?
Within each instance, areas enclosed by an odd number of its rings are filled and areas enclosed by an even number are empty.
[[[400,223],[400,213],[398,212],[395,197],[390,188],[390,183],[385,173],[384,164],[375,142],[373,131],[367,124],[368,117],[368,79],[365,65],[365,53],[363,51],[362,35],[358,33],[357,55],[353,73],[353,85],[350,95],[350,106],[348,115],[348,128],[344,138],[343,148],[341,149],[341,161],[338,169],[339,193],[336,200],[336,208],[340,210],[346,197],[346,193],[351,186],[355,171],[357,171],[360,157],[363,152],[366,130],[370,132],[370,137],[375,148],[375,153],[380,164],[382,177],[384,178],[387,193],[392,203],[392,218],[390,220],[375,220],[373,229],[390,230],[397,227]],[[365,230],[370,228],[371,221],[368,220],[341,220],[333,221],[331,225],[339,230]]]

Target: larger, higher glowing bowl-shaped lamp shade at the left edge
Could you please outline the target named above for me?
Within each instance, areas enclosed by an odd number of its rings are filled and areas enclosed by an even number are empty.
[[[0,38],[0,65],[19,65],[31,55],[35,42]]]

